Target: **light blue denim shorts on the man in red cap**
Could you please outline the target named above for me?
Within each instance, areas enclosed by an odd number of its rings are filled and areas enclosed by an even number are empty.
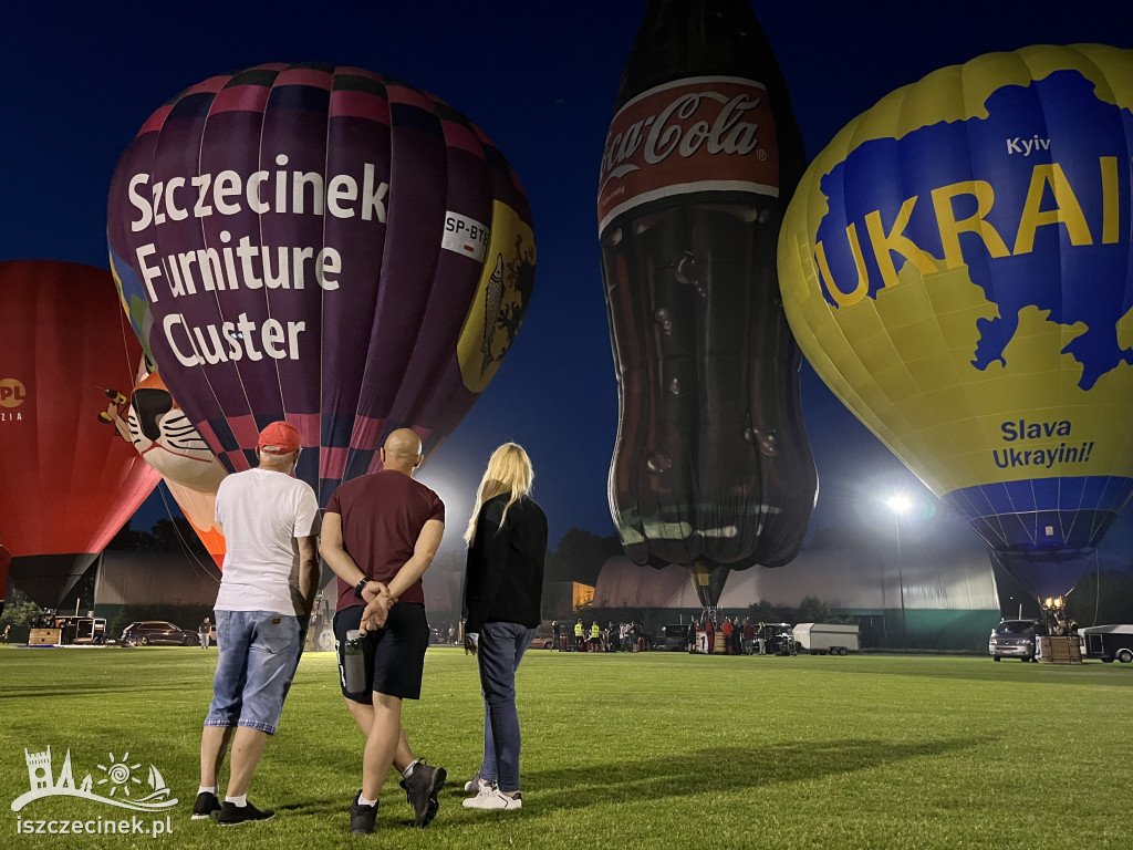
[[[205,725],[275,734],[306,630],[300,618],[274,611],[218,611],[216,675]]]

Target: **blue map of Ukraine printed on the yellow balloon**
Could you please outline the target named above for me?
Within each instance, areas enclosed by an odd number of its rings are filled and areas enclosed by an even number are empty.
[[[858,281],[846,227],[857,222],[862,260],[869,274],[869,297],[881,288],[881,274],[866,236],[864,216],[881,211],[883,224],[893,227],[901,204],[917,202],[904,235],[937,260],[944,256],[932,206],[934,189],[951,184],[985,180],[995,202],[985,215],[1013,250],[1036,164],[1056,162],[1077,199],[1089,227],[1091,244],[1073,246],[1067,228],[1040,224],[1034,246],[1017,256],[993,258],[978,233],[960,235],[969,277],[999,315],[978,320],[979,342],[972,365],[986,369],[1000,362],[1019,329],[1019,312],[1034,306],[1049,311],[1048,320],[1064,325],[1081,323],[1085,332],[1063,351],[1082,365],[1079,386],[1089,390],[1119,363],[1133,363],[1122,349],[1116,323],[1133,307],[1126,291],[1130,253],[1130,147],[1133,113],[1099,100],[1093,83],[1077,71],[1056,71],[1028,86],[1003,86],[986,101],[987,118],[940,122],[915,129],[900,139],[881,138],[861,144],[823,177],[823,194],[830,212],[818,228],[834,281],[849,291]],[[1049,139],[1049,146],[1047,145]],[[1116,158],[1118,169],[1119,237],[1102,241],[1102,179],[1099,158]],[[976,198],[953,199],[957,221],[976,214]],[[1056,207],[1050,187],[1040,210]],[[894,255],[900,267],[904,260]],[[832,286],[830,281],[824,281]],[[829,292],[826,299],[837,306]]]

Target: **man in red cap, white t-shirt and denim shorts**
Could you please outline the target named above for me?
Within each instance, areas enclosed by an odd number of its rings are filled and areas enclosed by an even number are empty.
[[[275,814],[248,802],[247,792],[279,725],[318,585],[318,500],[309,484],[292,477],[300,451],[298,430],[273,422],[259,432],[259,466],[229,475],[216,491],[227,553],[214,606],[219,657],[201,736],[194,821],[219,811],[216,822],[230,826]],[[216,774],[230,742],[221,806]]]

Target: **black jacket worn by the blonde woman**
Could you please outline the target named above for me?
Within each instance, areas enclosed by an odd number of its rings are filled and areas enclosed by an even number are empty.
[[[503,519],[509,493],[489,499],[476,518],[465,572],[465,631],[486,622],[535,628],[542,620],[547,518],[534,500],[518,499]]]

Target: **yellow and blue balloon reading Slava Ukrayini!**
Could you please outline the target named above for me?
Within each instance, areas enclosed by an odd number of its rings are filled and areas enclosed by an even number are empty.
[[[811,163],[778,246],[815,371],[1039,596],[1133,493],[1133,52],[944,68]]]

